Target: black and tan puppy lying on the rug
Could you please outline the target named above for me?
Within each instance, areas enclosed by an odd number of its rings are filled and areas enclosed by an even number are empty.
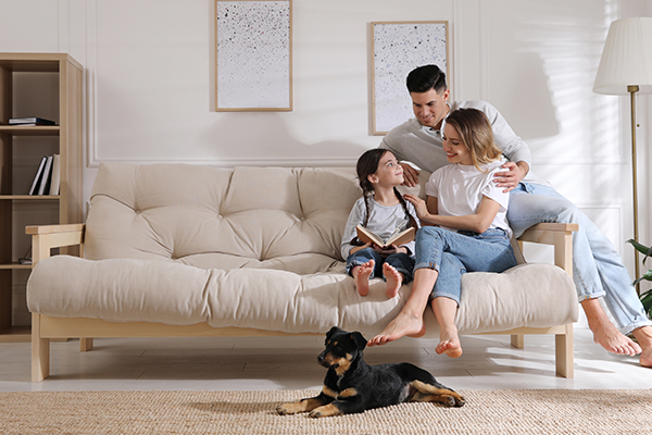
[[[310,412],[310,417],[330,417],[364,412],[406,401],[436,401],[461,407],[465,400],[414,364],[368,365],[362,351],[367,340],[359,332],[334,326],[326,334],[326,349],[317,357],[328,369],[318,396],[276,408],[279,414]]]

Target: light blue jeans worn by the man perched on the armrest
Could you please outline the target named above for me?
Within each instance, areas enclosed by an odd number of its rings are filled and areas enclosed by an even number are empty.
[[[514,237],[539,222],[577,223],[573,234],[573,281],[577,296],[604,297],[604,302],[624,334],[652,325],[645,315],[620,256],[600,229],[555,189],[521,183],[510,194],[507,220]]]

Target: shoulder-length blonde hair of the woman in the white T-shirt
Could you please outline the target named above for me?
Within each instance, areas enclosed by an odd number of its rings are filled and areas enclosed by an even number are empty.
[[[502,151],[493,140],[493,130],[485,112],[471,108],[457,109],[448,115],[446,123],[457,130],[478,171],[481,171],[481,164],[500,160]]]

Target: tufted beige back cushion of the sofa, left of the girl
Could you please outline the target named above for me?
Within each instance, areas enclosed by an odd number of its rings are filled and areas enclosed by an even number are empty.
[[[84,257],[325,272],[361,195],[353,167],[102,163]]]

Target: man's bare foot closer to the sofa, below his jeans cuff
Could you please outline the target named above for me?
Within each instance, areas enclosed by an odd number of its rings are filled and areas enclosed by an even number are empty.
[[[593,333],[593,341],[616,355],[634,357],[641,352],[641,347],[623,335],[607,318],[598,299],[585,299],[581,306],[587,313],[589,328]]]

